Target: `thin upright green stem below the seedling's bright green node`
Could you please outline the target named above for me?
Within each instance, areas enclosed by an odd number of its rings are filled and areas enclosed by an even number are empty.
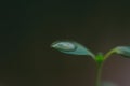
[[[102,67],[103,62],[98,66],[98,71],[96,71],[96,83],[95,86],[101,86],[101,73],[102,73]]]

